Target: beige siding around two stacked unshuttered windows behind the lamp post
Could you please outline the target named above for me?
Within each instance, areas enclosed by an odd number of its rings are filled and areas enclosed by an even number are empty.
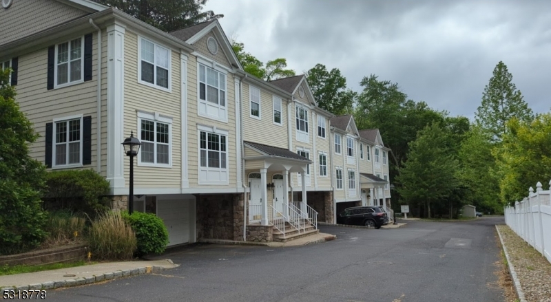
[[[156,42],[154,39],[149,41]],[[138,36],[134,32],[125,32],[125,80],[124,80],[124,137],[135,136],[141,140],[138,131],[137,111],[153,113],[172,118],[171,150],[169,151],[171,168],[134,165],[134,186],[138,188],[180,188],[181,186],[181,127],[180,127],[180,52],[170,50],[171,92],[156,89],[138,83]],[[160,44],[162,45],[162,44]],[[138,154],[138,156],[140,156]],[[138,160],[136,160],[136,163]],[[129,175],[129,161],[124,158],[125,173]],[[128,185],[129,179],[125,177]]]

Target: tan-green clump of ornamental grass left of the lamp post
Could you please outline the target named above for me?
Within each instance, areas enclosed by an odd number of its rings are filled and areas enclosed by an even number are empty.
[[[119,211],[98,213],[87,236],[92,257],[129,260],[136,251],[136,235]]]

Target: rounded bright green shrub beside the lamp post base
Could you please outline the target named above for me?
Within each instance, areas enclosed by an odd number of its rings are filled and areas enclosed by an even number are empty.
[[[134,212],[129,215],[123,212],[123,217],[130,223],[138,239],[138,257],[147,254],[160,254],[168,244],[168,230],[163,219],[151,213]]]

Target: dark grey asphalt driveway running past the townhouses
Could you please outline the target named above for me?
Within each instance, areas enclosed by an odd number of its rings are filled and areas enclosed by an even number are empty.
[[[337,239],[294,248],[197,244],[180,267],[48,292],[52,301],[503,301],[495,224],[408,221],[402,228],[321,226]]]

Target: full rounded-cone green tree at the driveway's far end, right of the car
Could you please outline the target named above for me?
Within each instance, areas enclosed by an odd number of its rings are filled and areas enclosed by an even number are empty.
[[[404,162],[397,182],[399,194],[408,204],[423,204],[426,216],[431,208],[441,206],[459,187],[456,177],[459,163],[446,147],[448,133],[439,122],[433,122],[410,142],[408,160]]]

